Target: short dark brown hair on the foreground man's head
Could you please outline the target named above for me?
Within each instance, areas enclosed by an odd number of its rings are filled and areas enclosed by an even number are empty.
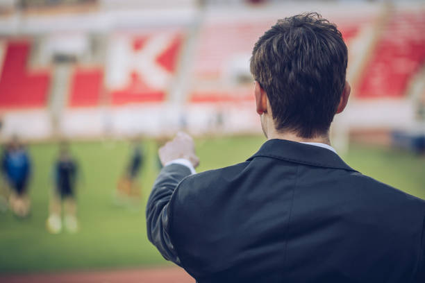
[[[251,74],[267,93],[276,130],[328,132],[344,89],[347,46],[316,12],[279,19],[253,48]]]

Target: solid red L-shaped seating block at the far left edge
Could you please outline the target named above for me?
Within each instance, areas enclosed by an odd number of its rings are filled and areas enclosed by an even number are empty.
[[[10,41],[0,73],[0,108],[43,108],[47,105],[50,74],[28,68],[31,43]]]

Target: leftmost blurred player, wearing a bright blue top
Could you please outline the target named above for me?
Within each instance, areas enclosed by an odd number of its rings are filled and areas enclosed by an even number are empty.
[[[28,196],[28,181],[31,175],[31,160],[18,137],[6,144],[1,160],[1,171],[10,189],[9,205],[19,217],[28,215],[31,201]]]

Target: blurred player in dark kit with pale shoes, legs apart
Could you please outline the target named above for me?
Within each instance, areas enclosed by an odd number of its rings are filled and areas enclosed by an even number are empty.
[[[50,197],[49,218],[47,218],[47,230],[52,234],[58,234],[63,229],[63,224],[68,232],[78,231],[77,178],[78,164],[69,153],[69,146],[65,143],[61,144],[59,155],[53,164],[53,189]],[[63,221],[62,212],[64,212]]]

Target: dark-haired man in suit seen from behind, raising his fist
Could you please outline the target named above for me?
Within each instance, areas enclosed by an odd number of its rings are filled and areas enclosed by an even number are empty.
[[[194,173],[184,134],[147,204],[149,240],[198,282],[425,282],[425,201],[345,164],[328,129],[350,94],[347,47],[317,14],[279,20],[253,48],[267,141]]]

